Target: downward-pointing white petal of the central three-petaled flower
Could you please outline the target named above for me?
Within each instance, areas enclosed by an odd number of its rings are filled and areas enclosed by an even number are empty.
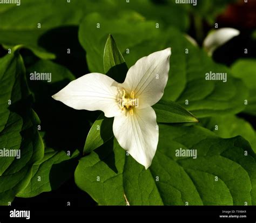
[[[124,112],[125,114],[125,112]],[[113,133],[122,148],[145,168],[151,165],[158,144],[157,117],[152,107],[133,109],[114,117]]]

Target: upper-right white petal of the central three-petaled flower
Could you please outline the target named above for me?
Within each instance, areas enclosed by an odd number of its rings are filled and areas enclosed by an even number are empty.
[[[164,94],[170,68],[171,48],[154,52],[139,59],[127,72],[124,87],[139,99],[139,109],[157,103]]]

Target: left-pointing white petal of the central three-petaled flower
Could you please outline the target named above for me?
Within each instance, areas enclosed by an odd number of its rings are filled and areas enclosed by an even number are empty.
[[[102,110],[106,117],[113,117],[120,114],[117,84],[107,75],[90,73],[71,81],[52,97],[71,108]]]

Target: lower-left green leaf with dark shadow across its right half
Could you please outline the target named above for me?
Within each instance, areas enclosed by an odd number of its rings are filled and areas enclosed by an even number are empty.
[[[64,151],[46,148],[44,158],[32,166],[32,177],[28,186],[19,192],[17,197],[35,197],[42,192],[57,189],[72,176],[78,154],[78,150],[68,156]]]

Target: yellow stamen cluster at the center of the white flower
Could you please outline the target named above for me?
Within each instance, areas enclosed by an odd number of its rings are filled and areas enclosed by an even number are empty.
[[[133,115],[133,108],[138,107],[138,99],[134,99],[134,92],[131,92],[131,95],[127,95],[124,88],[121,88],[119,93],[119,97],[117,99],[118,105],[120,109],[129,110],[130,115]]]

